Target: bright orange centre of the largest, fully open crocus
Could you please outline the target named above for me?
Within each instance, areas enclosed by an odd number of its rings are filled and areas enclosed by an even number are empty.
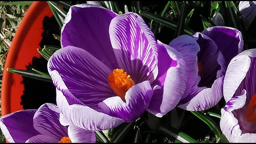
[[[131,76],[127,75],[123,69],[114,69],[113,72],[107,76],[107,79],[114,93],[125,101],[125,93],[134,85]]]

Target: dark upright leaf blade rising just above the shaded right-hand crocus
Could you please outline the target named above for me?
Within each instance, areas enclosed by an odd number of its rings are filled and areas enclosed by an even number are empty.
[[[182,5],[181,5],[179,19],[178,19],[179,25],[177,25],[177,30],[175,31],[174,38],[177,38],[184,33],[184,25],[185,25],[185,18],[186,18],[185,8],[186,8],[186,1],[183,1]]]

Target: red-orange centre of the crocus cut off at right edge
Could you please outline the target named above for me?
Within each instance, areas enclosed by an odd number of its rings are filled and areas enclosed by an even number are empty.
[[[250,100],[250,103],[246,110],[246,121],[256,123],[256,94],[254,94]]]

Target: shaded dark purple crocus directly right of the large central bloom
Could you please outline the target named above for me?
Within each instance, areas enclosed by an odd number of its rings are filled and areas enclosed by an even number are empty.
[[[179,102],[182,109],[201,111],[215,106],[223,96],[223,80],[230,60],[243,50],[243,38],[237,29],[215,26],[205,29],[202,33],[192,35],[190,43],[198,44],[198,53],[184,53],[182,44],[188,41],[178,37],[169,46],[178,50],[184,57],[187,67],[187,91]],[[182,44],[183,47],[177,47]]]

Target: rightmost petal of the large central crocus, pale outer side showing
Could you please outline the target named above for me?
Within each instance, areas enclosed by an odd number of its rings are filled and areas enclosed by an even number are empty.
[[[161,70],[159,77],[157,77],[159,82],[156,84],[162,87],[157,85],[153,91],[147,111],[157,117],[162,117],[174,109],[181,100],[186,89],[187,73],[183,56],[177,50],[160,41],[157,41],[157,47],[159,48],[159,68]],[[168,60],[168,56],[171,59],[169,62],[165,62]],[[166,67],[160,63],[166,64]],[[167,71],[166,68],[168,68]]]

